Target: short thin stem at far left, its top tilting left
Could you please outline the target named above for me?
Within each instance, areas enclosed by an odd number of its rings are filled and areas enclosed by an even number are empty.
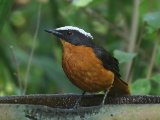
[[[18,84],[19,84],[19,89],[20,89],[20,95],[22,95],[22,78],[21,78],[21,74],[20,74],[19,63],[17,61],[17,58],[16,58],[16,55],[15,55],[13,46],[11,45],[9,48],[11,49],[13,60],[14,60],[15,67],[16,67],[16,76],[17,76],[17,79],[18,79]]]

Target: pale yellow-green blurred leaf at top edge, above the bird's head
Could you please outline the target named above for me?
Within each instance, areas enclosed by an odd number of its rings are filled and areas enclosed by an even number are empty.
[[[93,0],[73,0],[72,4],[77,6],[77,7],[84,7],[84,6],[88,5],[92,1]]]

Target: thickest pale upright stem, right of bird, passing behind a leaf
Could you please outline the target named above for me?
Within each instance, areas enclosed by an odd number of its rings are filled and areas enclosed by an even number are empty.
[[[130,30],[130,38],[129,38],[129,45],[128,45],[128,52],[133,53],[135,51],[136,46],[136,37],[138,33],[138,22],[139,22],[139,3],[140,0],[134,0],[133,6],[133,16],[132,16],[132,23],[131,23],[131,30]],[[130,73],[132,68],[133,60],[127,65],[126,68],[126,81],[130,82]]]

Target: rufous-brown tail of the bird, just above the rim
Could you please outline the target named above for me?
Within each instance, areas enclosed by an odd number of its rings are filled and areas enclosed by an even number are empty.
[[[123,96],[130,95],[129,85],[123,80],[116,78],[113,82],[113,87],[108,92],[108,96]]]

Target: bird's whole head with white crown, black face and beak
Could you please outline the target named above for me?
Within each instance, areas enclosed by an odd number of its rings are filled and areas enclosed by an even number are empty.
[[[73,45],[91,45],[92,35],[88,32],[85,32],[83,29],[73,26],[64,26],[56,29],[47,29],[45,30],[48,33],[52,33],[60,40],[69,42]]]

